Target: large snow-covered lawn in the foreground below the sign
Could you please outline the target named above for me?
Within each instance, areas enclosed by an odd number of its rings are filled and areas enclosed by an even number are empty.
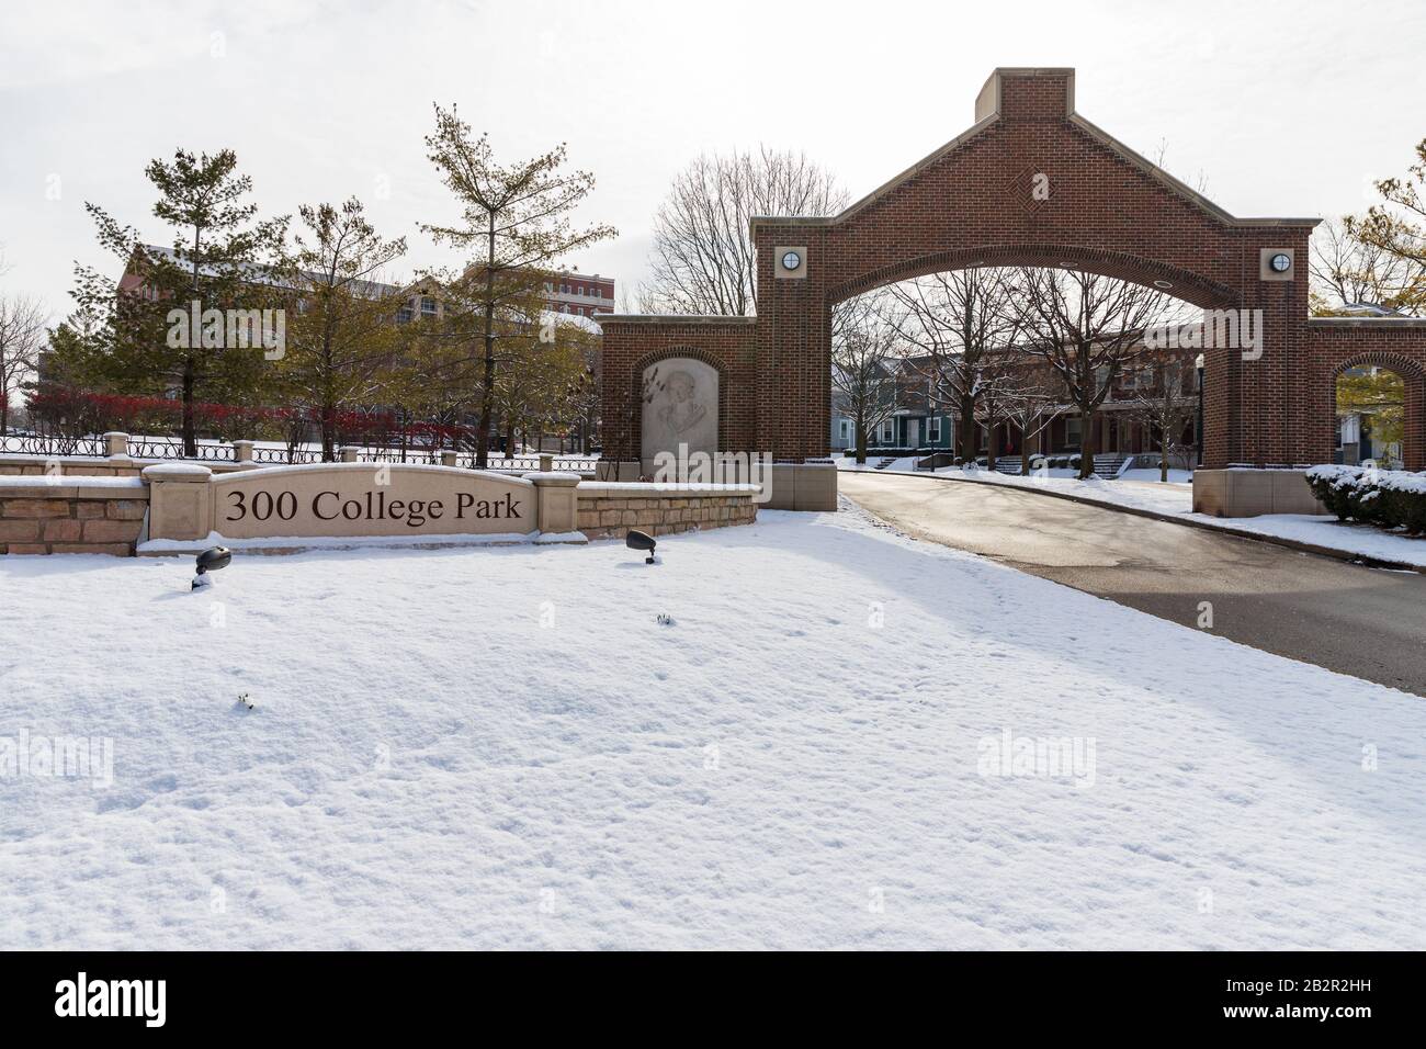
[[[1420,698],[857,511],[659,555],[0,558],[0,948],[1426,948]]]

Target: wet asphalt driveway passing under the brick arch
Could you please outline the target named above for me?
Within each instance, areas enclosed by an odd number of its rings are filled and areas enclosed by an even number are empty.
[[[887,474],[843,495],[910,535],[1291,659],[1426,695],[1426,575],[988,484]]]

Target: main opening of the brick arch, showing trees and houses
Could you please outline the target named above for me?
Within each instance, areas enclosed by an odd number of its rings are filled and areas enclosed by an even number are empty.
[[[1186,480],[1201,440],[1202,300],[1104,268],[967,265],[836,303],[833,454]]]

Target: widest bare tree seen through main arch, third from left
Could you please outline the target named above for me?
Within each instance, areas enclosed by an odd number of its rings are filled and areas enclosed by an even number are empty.
[[[1095,412],[1145,330],[1184,315],[1184,304],[1154,288],[1082,270],[1020,271],[1025,351],[1060,380],[1079,415],[1079,477],[1094,472]]]

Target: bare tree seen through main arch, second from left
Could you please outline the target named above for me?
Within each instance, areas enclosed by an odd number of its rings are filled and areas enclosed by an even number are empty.
[[[900,308],[897,334],[925,360],[930,397],[957,417],[960,455],[975,458],[975,410],[985,370],[1010,351],[1020,321],[1011,308],[1005,270],[955,270],[903,281],[890,288]]]

